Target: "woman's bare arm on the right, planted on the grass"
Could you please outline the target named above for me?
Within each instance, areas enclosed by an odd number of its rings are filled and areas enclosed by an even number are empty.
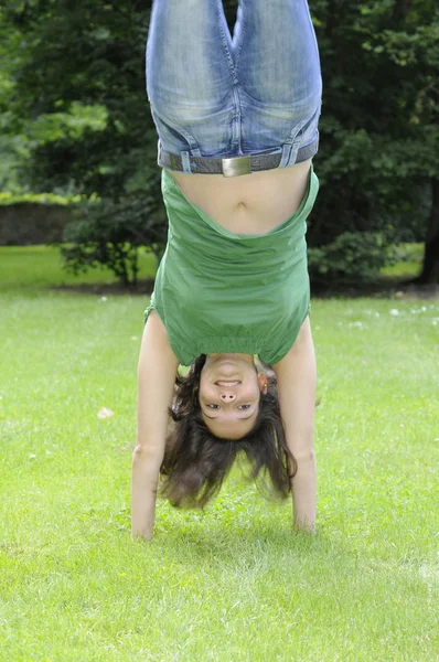
[[[288,354],[272,366],[288,448],[298,470],[292,479],[293,524],[315,528],[317,469],[313,451],[317,366],[309,317]]]

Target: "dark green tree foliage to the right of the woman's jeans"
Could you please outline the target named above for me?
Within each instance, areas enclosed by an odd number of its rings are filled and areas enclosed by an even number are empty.
[[[430,266],[422,279],[437,281],[439,8],[435,0],[315,0],[311,10],[324,93],[310,243],[371,231],[426,241],[436,276]]]

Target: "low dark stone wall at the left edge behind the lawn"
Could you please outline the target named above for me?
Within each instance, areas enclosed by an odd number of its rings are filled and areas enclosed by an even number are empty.
[[[61,204],[20,202],[0,205],[0,246],[61,242],[72,210]]]

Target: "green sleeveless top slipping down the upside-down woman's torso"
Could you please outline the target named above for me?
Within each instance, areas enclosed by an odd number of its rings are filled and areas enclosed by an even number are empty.
[[[268,364],[287,354],[310,309],[306,220],[318,190],[311,166],[295,214],[268,234],[239,235],[162,170],[168,245],[143,320],[157,310],[182,365],[200,354],[257,354]]]

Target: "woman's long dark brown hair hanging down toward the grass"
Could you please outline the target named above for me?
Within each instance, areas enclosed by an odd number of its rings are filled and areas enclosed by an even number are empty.
[[[202,418],[199,388],[206,356],[199,356],[184,376],[175,380],[171,408],[173,427],[168,435],[160,469],[160,494],[172,505],[203,508],[221,489],[236,457],[248,460],[249,480],[267,496],[285,499],[291,490],[297,462],[288,449],[280,418],[277,383],[269,373],[254,428],[240,439],[215,437]],[[265,482],[268,474],[271,488]]]

